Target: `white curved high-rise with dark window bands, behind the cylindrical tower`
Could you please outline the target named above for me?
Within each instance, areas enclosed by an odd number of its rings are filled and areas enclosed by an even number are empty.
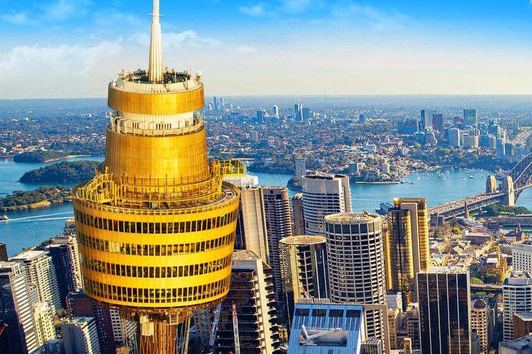
[[[305,234],[325,236],[325,216],[351,212],[349,178],[342,175],[303,176]]]

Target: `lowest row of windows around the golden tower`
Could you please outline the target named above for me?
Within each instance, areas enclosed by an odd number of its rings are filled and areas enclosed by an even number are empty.
[[[202,286],[172,289],[143,289],[126,288],[125,286],[111,286],[83,278],[83,283],[90,294],[113,301],[127,301],[130,303],[164,304],[172,302],[197,301],[215,297],[225,292],[228,279],[215,281]]]

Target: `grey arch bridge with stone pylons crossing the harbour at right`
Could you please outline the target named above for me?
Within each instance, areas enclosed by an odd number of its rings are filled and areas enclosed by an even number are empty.
[[[517,162],[499,185],[495,176],[490,175],[486,180],[486,192],[429,209],[431,223],[438,225],[442,219],[447,220],[460,214],[468,216],[473,210],[495,203],[515,206],[521,192],[529,187],[532,187],[532,153]]]

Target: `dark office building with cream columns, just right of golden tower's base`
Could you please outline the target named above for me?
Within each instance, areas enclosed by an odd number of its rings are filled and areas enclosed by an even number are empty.
[[[215,353],[229,353],[234,350],[234,303],[241,353],[281,354],[272,291],[272,268],[252,251],[235,251],[231,286],[227,299],[222,302],[218,322]]]

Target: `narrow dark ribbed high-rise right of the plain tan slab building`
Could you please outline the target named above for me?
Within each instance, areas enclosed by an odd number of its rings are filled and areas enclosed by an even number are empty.
[[[285,307],[283,279],[281,277],[281,257],[279,241],[292,236],[292,216],[290,215],[290,197],[287,187],[262,187],[264,214],[268,232],[269,266],[274,276],[274,290],[278,310]]]

